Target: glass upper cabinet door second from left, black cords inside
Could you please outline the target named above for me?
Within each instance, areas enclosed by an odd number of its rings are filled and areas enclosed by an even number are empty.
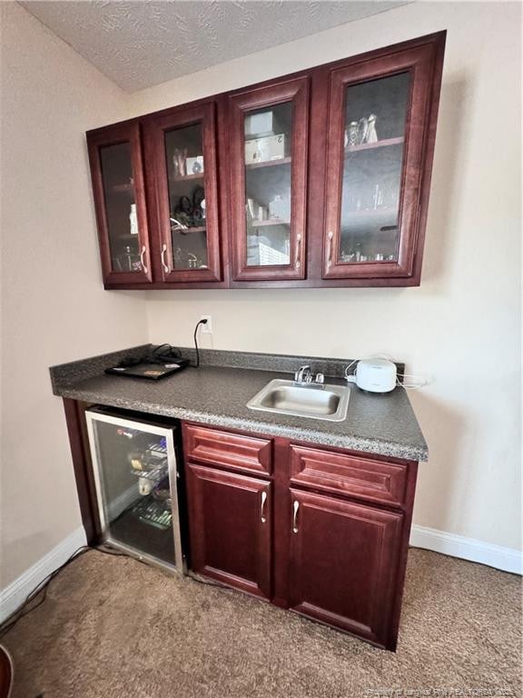
[[[150,125],[165,282],[222,278],[214,108],[174,109]]]

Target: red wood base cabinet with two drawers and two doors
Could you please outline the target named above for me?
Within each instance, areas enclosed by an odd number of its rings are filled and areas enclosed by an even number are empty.
[[[396,648],[416,463],[199,424],[183,451],[194,572]]]

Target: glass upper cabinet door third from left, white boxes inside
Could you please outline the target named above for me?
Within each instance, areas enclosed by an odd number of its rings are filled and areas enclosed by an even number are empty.
[[[230,98],[236,281],[305,276],[307,78]]]

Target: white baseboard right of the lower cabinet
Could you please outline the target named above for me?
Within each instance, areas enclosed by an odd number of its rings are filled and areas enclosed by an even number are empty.
[[[412,526],[410,545],[451,557],[460,557],[472,563],[488,564],[489,567],[496,567],[503,572],[523,574],[523,553],[514,548],[504,548],[501,545],[483,543],[474,538],[417,525]]]

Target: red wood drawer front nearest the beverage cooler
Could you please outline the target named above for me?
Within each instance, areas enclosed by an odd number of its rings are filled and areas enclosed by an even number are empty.
[[[185,458],[196,463],[223,465],[241,472],[272,472],[272,446],[269,439],[184,425],[183,450]]]

